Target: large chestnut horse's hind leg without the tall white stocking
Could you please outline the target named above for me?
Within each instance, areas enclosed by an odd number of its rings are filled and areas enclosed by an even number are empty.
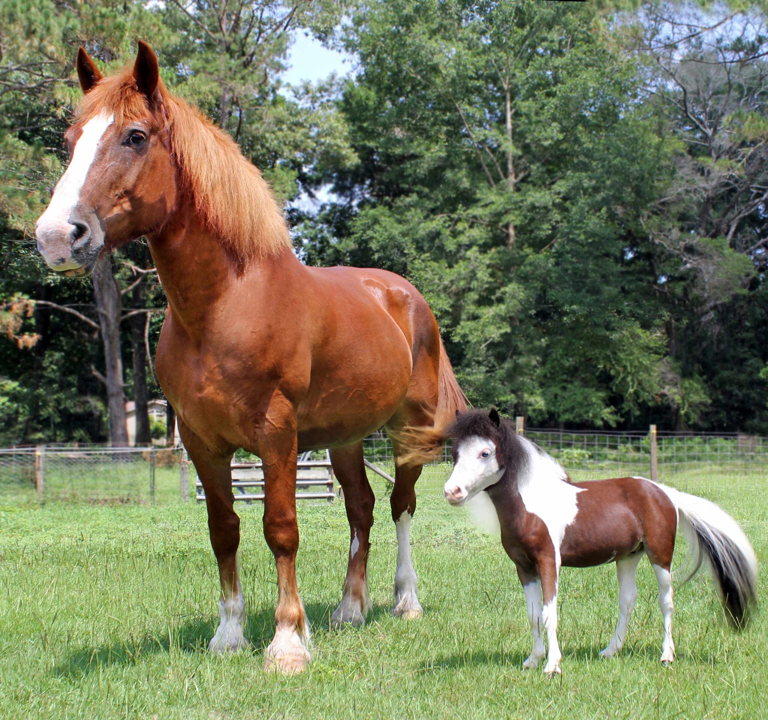
[[[346,517],[349,520],[349,562],[344,594],[339,607],[331,615],[331,625],[338,628],[345,622],[362,625],[371,606],[367,566],[375,498],[362,461],[362,442],[331,450],[330,456],[333,472],[344,491]]]

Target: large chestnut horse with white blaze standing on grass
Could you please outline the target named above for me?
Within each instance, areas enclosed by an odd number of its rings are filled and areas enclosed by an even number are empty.
[[[310,654],[296,587],[296,451],[331,449],[350,531],[333,624],[364,622],[373,493],[362,439],[386,426],[402,456],[414,433],[400,431],[440,426],[465,407],[435,317],[392,273],[301,264],[260,172],[170,95],[147,45],[118,75],[102,78],[82,48],[77,69],[85,95],[65,135],[71,161],[38,220],[38,248],[54,270],[84,274],[101,254],[147,237],[169,301],[157,377],[205,488],[219,564],[221,623],[210,649],[247,644],[230,476],[242,447],[263,460],[264,535],[277,566],[266,663],[301,670]],[[422,612],[409,547],[420,473],[399,463],[391,497],[393,612],[406,618]]]

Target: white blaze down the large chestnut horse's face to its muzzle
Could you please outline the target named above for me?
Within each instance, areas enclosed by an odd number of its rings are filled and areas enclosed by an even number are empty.
[[[74,152],[65,174],[56,184],[51,202],[37,223],[37,238],[41,250],[45,254],[48,244],[67,243],[75,229],[74,222],[81,218],[73,217],[80,202],[80,194],[91,169],[98,145],[107,128],[114,122],[114,115],[105,112],[91,118],[83,125],[83,131],[74,145]],[[84,220],[84,218],[82,218]],[[64,264],[58,263],[58,258],[48,258],[57,270],[69,269],[65,266],[78,267],[71,258]]]

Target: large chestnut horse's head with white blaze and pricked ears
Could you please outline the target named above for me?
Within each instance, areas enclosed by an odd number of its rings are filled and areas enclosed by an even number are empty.
[[[48,265],[69,275],[161,224],[177,194],[151,48],[140,41],[133,68],[110,78],[80,48],[77,69],[85,96],[65,134],[71,160],[36,231]]]

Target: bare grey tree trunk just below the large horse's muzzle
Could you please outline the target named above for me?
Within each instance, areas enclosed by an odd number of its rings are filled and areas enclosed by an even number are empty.
[[[104,366],[107,375],[109,436],[113,445],[127,446],[125,398],[123,396],[123,359],[120,347],[120,289],[112,275],[112,258],[104,253],[94,267],[94,303],[104,343]]]

